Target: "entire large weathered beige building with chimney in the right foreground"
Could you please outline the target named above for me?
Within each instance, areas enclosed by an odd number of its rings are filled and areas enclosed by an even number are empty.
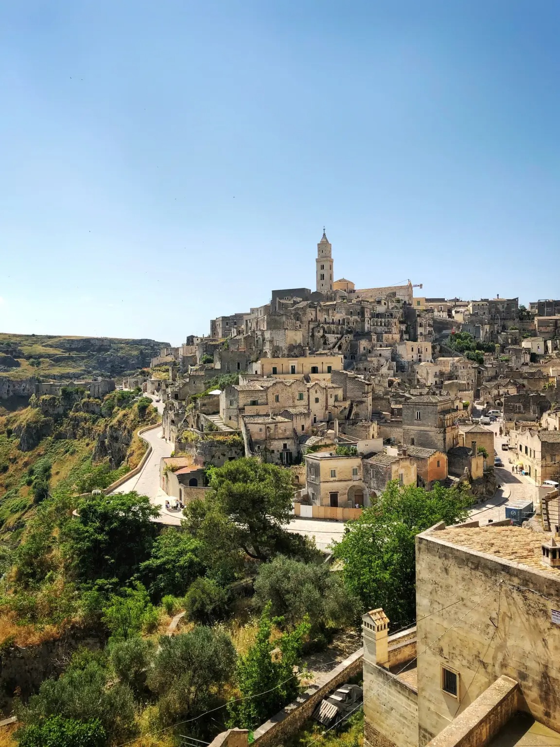
[[[559,745],[559,564],[522,527],[418,535],[416,626],[363,618],[364,746]]]

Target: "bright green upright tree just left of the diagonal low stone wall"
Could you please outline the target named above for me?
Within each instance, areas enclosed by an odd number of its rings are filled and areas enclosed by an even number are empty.
[[[228,704],[232,727],[255,728],[299,693],[299,675],[293,668],[311,626],[305,620],[291,633],[271,642],[273,624],[281,619],[272,619],[270,609],[267,604],[259,620],[255,643],[237,663],[237,685],[243,699]],[[279,655],[275,655],[275,649]]]

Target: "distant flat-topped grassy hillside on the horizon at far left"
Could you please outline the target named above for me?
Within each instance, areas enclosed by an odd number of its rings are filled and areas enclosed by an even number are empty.
[[[149,339],[16,335],[0,332],[0,376],[51,379],[122,376],[149,365],[168,345]]]

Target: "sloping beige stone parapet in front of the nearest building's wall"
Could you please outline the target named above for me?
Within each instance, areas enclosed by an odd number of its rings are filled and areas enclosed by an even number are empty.
[[[519,686],[503,675],[426,747],[485,747],[517,712]]]

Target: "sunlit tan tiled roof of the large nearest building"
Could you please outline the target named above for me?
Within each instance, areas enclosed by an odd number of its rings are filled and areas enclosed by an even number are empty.
[[[550,539],[549,534],[523,527],[489,526],[447,527],[439,531],[430,531],[429,536],[431,539],[442,539],[460,548],[528,565],[529,568],[553,574],[560,580],[560,568],[551,568],[541,562],[541,543]]]

